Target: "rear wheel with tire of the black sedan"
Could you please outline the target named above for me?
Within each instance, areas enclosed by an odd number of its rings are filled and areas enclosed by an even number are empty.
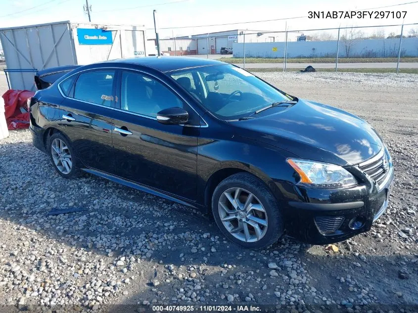
[[[60,148],[59,143],[63,144],[61,146],[62,151],[57,151],[57,148],[58,150]],[[77,158],[75,157],[71,141],[63,134],[54,133],[49,136],[46,142],[46,151],[59,175],[67,179],[76,178],[81,175],[81,171],[77,167]],[[61,154],[61,158],[59,154]],[[59,162],[57,162],[57,158],[60,159]]]

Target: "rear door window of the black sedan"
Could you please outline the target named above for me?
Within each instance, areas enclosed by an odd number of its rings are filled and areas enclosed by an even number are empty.
[[[74,98],[104,106],[112,105],[114,70],[99,70],[79,75],[74,88]]]

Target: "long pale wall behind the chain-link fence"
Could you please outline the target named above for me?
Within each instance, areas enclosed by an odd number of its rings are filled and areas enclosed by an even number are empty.
[[[246,57],[283,57],[284,42],[249,43],[245,36]],[[243,57],[243,43],[234,43],[233,56]],[[277,49],[275,49],[277,48]],[[349,54],[347,55],[347,49]],[[350,43],[340,40],[339,57],[393,57],[398,56],[399,38],[363,39]],[[276,50],[276,51],[275,51]],[[335,57],[337,41],[288,42],[287,57]],[[403,38],[401,56],[418,56],[418,38]]]

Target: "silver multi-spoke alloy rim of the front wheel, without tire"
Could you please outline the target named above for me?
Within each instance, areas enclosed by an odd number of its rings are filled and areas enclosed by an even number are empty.
[[[266,234],[266,210],[254,194],[243,188],[224,191],[219,198],[218,212],[225,228],[241,241],[256,242]]]

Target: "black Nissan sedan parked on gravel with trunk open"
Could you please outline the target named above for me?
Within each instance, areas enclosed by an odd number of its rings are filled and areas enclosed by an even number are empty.
[[[37,75],[50,86],[30,100],[30,130],[64,178],[84,171],[211,212],[245,248],[284,232],[345,240],[388,205],[392,160],[369,124],[238,67],[147,57],[59,72]]]

